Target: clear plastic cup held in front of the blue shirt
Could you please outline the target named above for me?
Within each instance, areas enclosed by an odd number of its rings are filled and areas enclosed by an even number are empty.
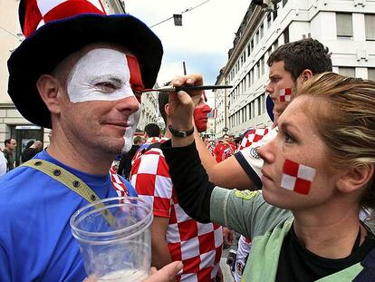
[[[101,199],[71,219],[88,277],[96,281],[143,281],[151,265],[148,202],[135,197]]]

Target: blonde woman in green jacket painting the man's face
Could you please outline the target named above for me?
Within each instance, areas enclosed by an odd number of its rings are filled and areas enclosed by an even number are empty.
[[[169,99],[172,126],[188,131],[190,96]],[[244,281],[375,280],[375,238],[359,219],[361,209],[375,206],[375,83],[336,73],[305,83],[280,116],[274,140],[257,150],[262,192],[215,187],[191,136],[174,137],[163,151],[190,217],[253,238]]]

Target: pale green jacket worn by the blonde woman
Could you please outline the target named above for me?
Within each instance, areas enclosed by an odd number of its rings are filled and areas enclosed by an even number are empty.
[[[243,281],[274,281],[280,250],[293,224],[293,214],[290,210],[267,204],[259,191],[226,190],[216,187],[210,199],[210,218],[215,223],[252,238],[251,253],[245,266]],[[317,281],[352,281],[362,268],[361,263],[357,263]]]

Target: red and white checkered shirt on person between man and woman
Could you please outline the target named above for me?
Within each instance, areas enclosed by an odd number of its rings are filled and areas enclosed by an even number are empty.
[[[223,231],[212,223],[191,219],[178,205],[167,161],[159,148],[151,148],[133,161],[131,184],[139,197],[149,200],[155,217],[168,218],[166,240],[173,261],[184,264],[177,281],[211,281],[221,258]]]

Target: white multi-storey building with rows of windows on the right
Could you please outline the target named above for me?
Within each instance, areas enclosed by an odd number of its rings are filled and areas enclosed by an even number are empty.
[[[224,128],[238,136],[271,124],[266,62],[282,44],[312,37],[329,47],[333,72],[375,80],[374,0],[282,0],[272,8],[249,5],[237,30],[216,81],[234,86],[226,95],[216,94],[216,136]]]

